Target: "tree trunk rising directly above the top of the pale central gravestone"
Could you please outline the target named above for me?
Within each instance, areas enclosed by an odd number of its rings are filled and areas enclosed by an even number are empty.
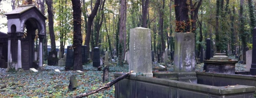
[[[148,14],[148,4],[149,0],[141,0],[142,1],[142,27],[147,28],[147,14]]]

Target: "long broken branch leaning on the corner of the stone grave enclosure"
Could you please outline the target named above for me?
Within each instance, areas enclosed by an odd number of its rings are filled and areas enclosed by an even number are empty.
[[[116,82],[122,80],[122,79],[125,79],[126,77],[130,76],[131,73],[133,73],[133,71],[131,72],[127,72],[125,73],[125,75],[122,75],[122,76],[119,76],[118,78],[112,80],[111,82],[108,82],[105,86],[103,87],[100,87],[96,90],[93,90],[93,91],[90,91],[89,93],[84,93],[84,94],[80,94],[80,95],[77,95],[75,96],[74,98],[82,98],[82,97],[87,97],[88,95],[91,95],[91,94],[95,94],[95,93],[99,93],[101,91],[104,91],[106,90],[107,88],[110,88],[112,85],[114,85]]]

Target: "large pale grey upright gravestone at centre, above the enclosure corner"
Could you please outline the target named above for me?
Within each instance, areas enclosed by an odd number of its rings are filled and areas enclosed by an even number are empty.
[[[137,27],[130,30],[129,71],[153,77],[150,29]]]

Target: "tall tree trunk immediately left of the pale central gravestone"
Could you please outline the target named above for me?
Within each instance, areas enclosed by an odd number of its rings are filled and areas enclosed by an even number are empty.
[[[123,66],[126,52],[126,0],[121,0],[120,5],[120,28],[119,28],[119,45],[118,45],[118,63]]]

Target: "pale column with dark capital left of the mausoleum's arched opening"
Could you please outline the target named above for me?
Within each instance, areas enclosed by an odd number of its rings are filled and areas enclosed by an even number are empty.
[[[18,38],[18,64],[15,69],[22,68],[21,65],[21,37],[23,36],[24,32],[17,32],[17,38]]]

